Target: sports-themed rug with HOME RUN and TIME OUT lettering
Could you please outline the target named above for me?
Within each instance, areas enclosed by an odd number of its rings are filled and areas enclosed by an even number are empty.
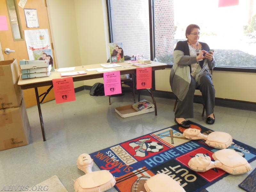
[[[191,127],[208,135],[212,130],[190,121]],[[91,153],[101,170],[109,170],[116,177],[119,192],[145,191],[144,183],[157,173],[165,173],[179,181],[186,192],[198,192],[228,173],[221,169],[194,172],[188,161],[194,156],[210,156],[219,150],[209,147],[204,140],[188,140],[183,128],[173,125],[135,139]],[[256,149],[233,139],[229,148],[243,156],[249,163],[256,159]]]

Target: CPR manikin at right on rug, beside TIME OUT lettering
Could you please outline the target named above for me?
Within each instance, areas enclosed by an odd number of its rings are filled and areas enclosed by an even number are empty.
[[[193,157],[188,166],[196,172],[206,172],[212,168],[219,168],[232,175],[243,174],[252,169],[247,160],[233,149],[221,149],[212,154],[215,161],[209,156]]]

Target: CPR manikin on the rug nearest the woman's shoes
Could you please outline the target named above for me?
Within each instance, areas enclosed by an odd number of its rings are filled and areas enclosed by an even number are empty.
[[[183,132],[183,136],[191,140],[205,140],[205,143],[213,148],[225,149],[233,143],[231,135],[225,132],[211,132],[209,135],[204,135],[199,129],[188,128]]]

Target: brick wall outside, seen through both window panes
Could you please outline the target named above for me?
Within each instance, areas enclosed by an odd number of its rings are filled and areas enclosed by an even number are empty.
[[[148,0],[112,0],[114,42],[123,42],[124,55],[143,53],[150,59]],[[173,52],[173,0],[155,0],[156,57]]]

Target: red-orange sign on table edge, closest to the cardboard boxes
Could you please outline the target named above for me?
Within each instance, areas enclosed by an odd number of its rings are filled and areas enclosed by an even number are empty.
[[[52,79],[52,84],[57,104],[76,100],[73,77]]]

